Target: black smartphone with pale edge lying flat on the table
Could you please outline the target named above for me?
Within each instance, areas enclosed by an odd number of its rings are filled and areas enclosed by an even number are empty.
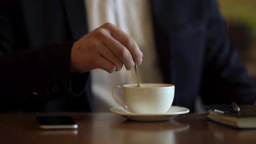
[[[39,116],[36,118],[42,129],[76,129],[78,125],[70,116]]]

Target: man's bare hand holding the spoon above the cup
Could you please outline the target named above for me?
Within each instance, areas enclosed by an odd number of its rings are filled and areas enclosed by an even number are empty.
[[[111,23],[105,23],[76,41],[71,66],[76,72],[103,69],[109,73],[140,65],[143,54],[135,41]]]

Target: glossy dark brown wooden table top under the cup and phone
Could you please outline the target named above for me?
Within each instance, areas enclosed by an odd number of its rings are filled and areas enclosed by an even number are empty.
[[[41,130],[36,116],[70,115],[77,130]],[[171,121],[130,121],[112,113],[0,114],[0,144],[256,144],[256,130],[236,130],[206,114]]]

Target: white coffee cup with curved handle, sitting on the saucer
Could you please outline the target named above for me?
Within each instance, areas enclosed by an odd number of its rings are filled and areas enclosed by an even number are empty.
[[[125,105],[115,96],[115,90],[120,89],[124,96]],[[160,83],[144,83],[115,86],[112,89],[115,102],[131,113],[161,114],[166,113],[174,99],[174,85]]]

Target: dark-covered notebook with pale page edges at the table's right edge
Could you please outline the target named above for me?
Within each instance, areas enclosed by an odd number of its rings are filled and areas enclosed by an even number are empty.
[[[256,105],[206,105],[208,120],[233,128],[256,128]]]

